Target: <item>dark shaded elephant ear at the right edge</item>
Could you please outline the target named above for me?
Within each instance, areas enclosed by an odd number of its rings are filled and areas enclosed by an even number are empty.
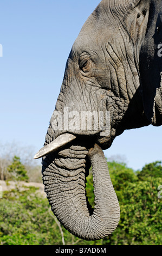
[[[147,119],[155,126],[162,124],[162,57],[159,54],[162,38],[161,9],[161,1],[156,3],[155,0],[152,1],[145,42],[140,51],[140,79],[144,111]]]

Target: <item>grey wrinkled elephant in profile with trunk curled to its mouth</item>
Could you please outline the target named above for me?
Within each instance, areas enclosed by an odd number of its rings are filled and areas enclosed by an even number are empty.
[[[51,210],[81,239],[102,239],[120,220],[103,150],[125,130],[162,124],[161,21],[161,0],[102,0],[70,51],[34,158],[42,157]],[[90,167],[94,208],[85,185]]]

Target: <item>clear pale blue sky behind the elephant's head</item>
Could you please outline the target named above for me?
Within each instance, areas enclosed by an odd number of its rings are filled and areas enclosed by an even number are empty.
[[[99,2],[1,1],[0,143],[31,145],[36,152],[43,146],[70,49]],[[161,132],[153,126],[125,131],[105,155],[121,155],[133,169],[161,161]]]

